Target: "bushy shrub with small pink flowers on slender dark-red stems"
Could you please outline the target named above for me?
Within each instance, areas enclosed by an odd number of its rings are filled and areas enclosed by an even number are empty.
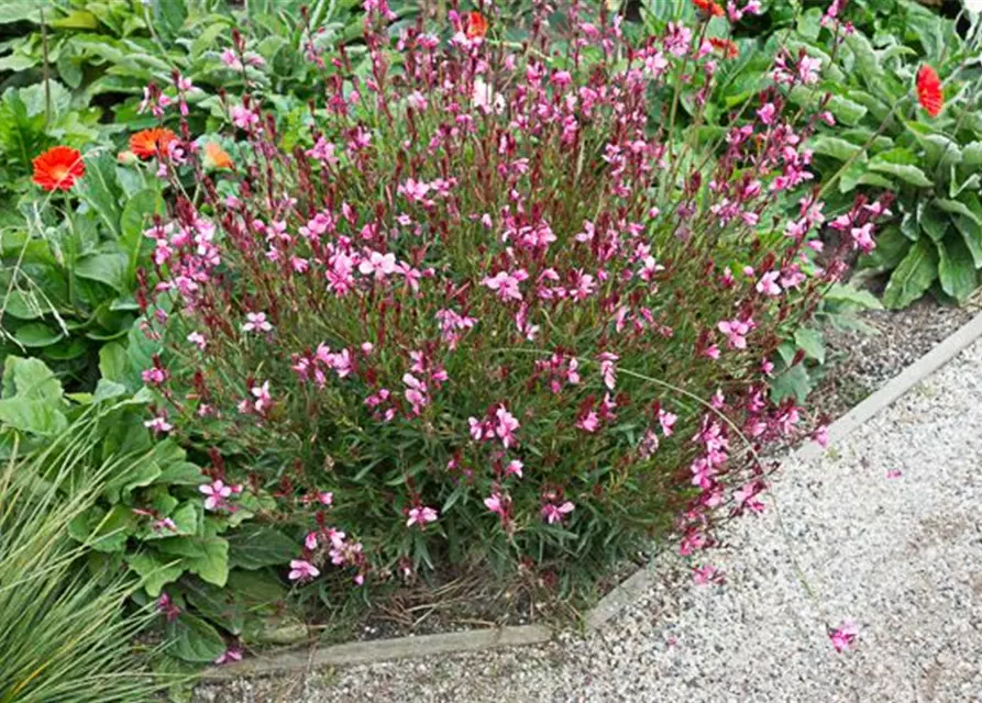
[[[521,46],[455,12],[449,42],[390,45],[371,0],[368,76],[311,51],[306,147],[252,93],[228,104],[232,172],[186,129],[158,154],[146,424],[210,450],[207,512],[250,500],[293,535],[284,578],[331,594],[468,556],[592,578],[763,509],[757,449],[802,417],[769,399],[771,358],[885,205],[857,198],[824,247],[804,144],[832,119],[804,53],[720,144],[673,138],[730,55],[702,4],[640,42],[575,4],[553,32],[540,3]]]

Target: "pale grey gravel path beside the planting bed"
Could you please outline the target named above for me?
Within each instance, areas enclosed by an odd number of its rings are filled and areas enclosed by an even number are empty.
[[[696,587],[667,557],[658,585],[586,638],[236,681],[197,699],[982,703],[980,429],[982,341],[823,458],[786,465],[772,491],[784,528],[773,501],[738,521],[714,555],[725,585]],[[836,654],[825,626],[845,617],[859,641]]]

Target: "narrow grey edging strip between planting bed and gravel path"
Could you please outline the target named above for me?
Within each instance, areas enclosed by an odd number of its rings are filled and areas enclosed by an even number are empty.
[[[829,425],[829,443],[841,440],[950,361],[979,337],[982,337],[982,313],[942,339],[925,356]],[[817,444],[809,443],[798,448],[793,456],[801,461],[808,461],[820,456],[821,451],[821,447]],[[617,615],[648,589],[653,578],[652,569],[641,568],[602,598],[597,605],[584,616],[586,632],[598,629]],[[266,676],[280,671],[311,670],[326,666],[373,663],[389,659],[462,654],[515,645],[536,645],[549,641],[553,634],[553,631],[544,625],[521,625],[354,641],[319,649],[287,651],[273,657],[256,657],[221,668],[214,667],[205,671],[202,679],[221,680],[242,676]]]

